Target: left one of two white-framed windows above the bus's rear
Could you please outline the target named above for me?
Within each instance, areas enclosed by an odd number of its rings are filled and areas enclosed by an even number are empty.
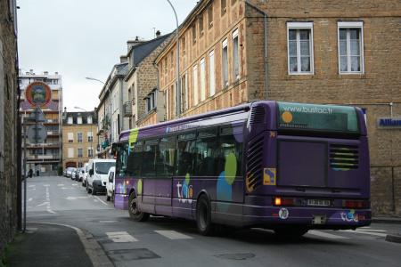
[[[288,22],[289,74],[313,74],[313,22]]]

